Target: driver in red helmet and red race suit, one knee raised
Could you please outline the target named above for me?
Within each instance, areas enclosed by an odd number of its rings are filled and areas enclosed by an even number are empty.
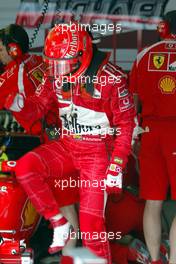
[[[69,171],[68,160],[73,161],[80,171],[80,180],[90,183],[80,188],[80,230],[88,234],[82,237],[83,243],[111,263],[108,241],[101,240],[101,232],[105,232],[106,199],[100,186],[105,180],[107,193],[122,190],[122,170],[130,153],[134,128],[134,105],[126,74],[108,62],[108,54],[93,47],[88,32],[79,31],[76,23],[74,30],[68,26],[63,31],[62,27],[56,25],[46,38],[44,56],[48,70],[42,86],[24,105],[14,100],[13,107],[32,123],[57,100],[63,133],[58,141],[44,144],[22,157],[16,175],[36,209],[52,222],[51,248],[56,251],[66,243],[70,224],[58,211],[45,179]],[[83,75],[105,76],[111,81],[106,86],[100,82],[93,85],[80,81]],[[69,82],[63,82],[65,77]],[[75,77],[76,83],[72,81]],[[114,131],[119,127],[121,133],[115,136]],[[95,179],[96,186],[92,184]]]

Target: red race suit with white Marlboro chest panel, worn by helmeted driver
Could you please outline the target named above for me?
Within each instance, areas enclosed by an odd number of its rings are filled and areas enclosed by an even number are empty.
[[[79,170],[83,243],[111,263],[108,240],[101,237],[105,234],[104,179],[114,159],[120,158],[126,165],[135,111],[126,74],[105,61],[100,66],[93,95],[78,82],[71,83],[70,95],[65,96],[60,80],[46,78],[35,96],[26,100],[19,113],[30,124],[57,101],[62,131],[58,141],[43,144],[22,157],[16,175],[36,209],[49,219],[58,213],[58,206],[46,179],[57,176],[58,187],[63,188],[61,175]],[[75,183],[68,177],[67,184]]]

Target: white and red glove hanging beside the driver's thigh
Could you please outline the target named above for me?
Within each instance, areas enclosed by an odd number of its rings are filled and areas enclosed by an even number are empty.
[[[111,163],[106,173],[106,192],[108,194],[122,192],[122,168],[115,163]]]

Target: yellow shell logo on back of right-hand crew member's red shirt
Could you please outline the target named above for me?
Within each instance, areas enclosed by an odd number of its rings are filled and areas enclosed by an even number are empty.
[[[173,94],[176,88],[175,78],[166,75],[159,80],[158,86],[163,94]]]

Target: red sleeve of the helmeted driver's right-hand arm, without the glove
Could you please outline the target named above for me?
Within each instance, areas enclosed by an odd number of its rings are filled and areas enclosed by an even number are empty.
[[[125,91],[124,94],[118,89],[118,85],[121,90]],[[135,126],[134,117],[136,112],[132,95],[127,87],[126,77],[123,76],[121,82],[115,84],[112,89],[111,109],[113,112],[113,125],[120,129],[120,133],[116,135],[111,161],[115,157],[119,157],[122,160],[121,166],[124,168],[131,151],[131,138]]]

